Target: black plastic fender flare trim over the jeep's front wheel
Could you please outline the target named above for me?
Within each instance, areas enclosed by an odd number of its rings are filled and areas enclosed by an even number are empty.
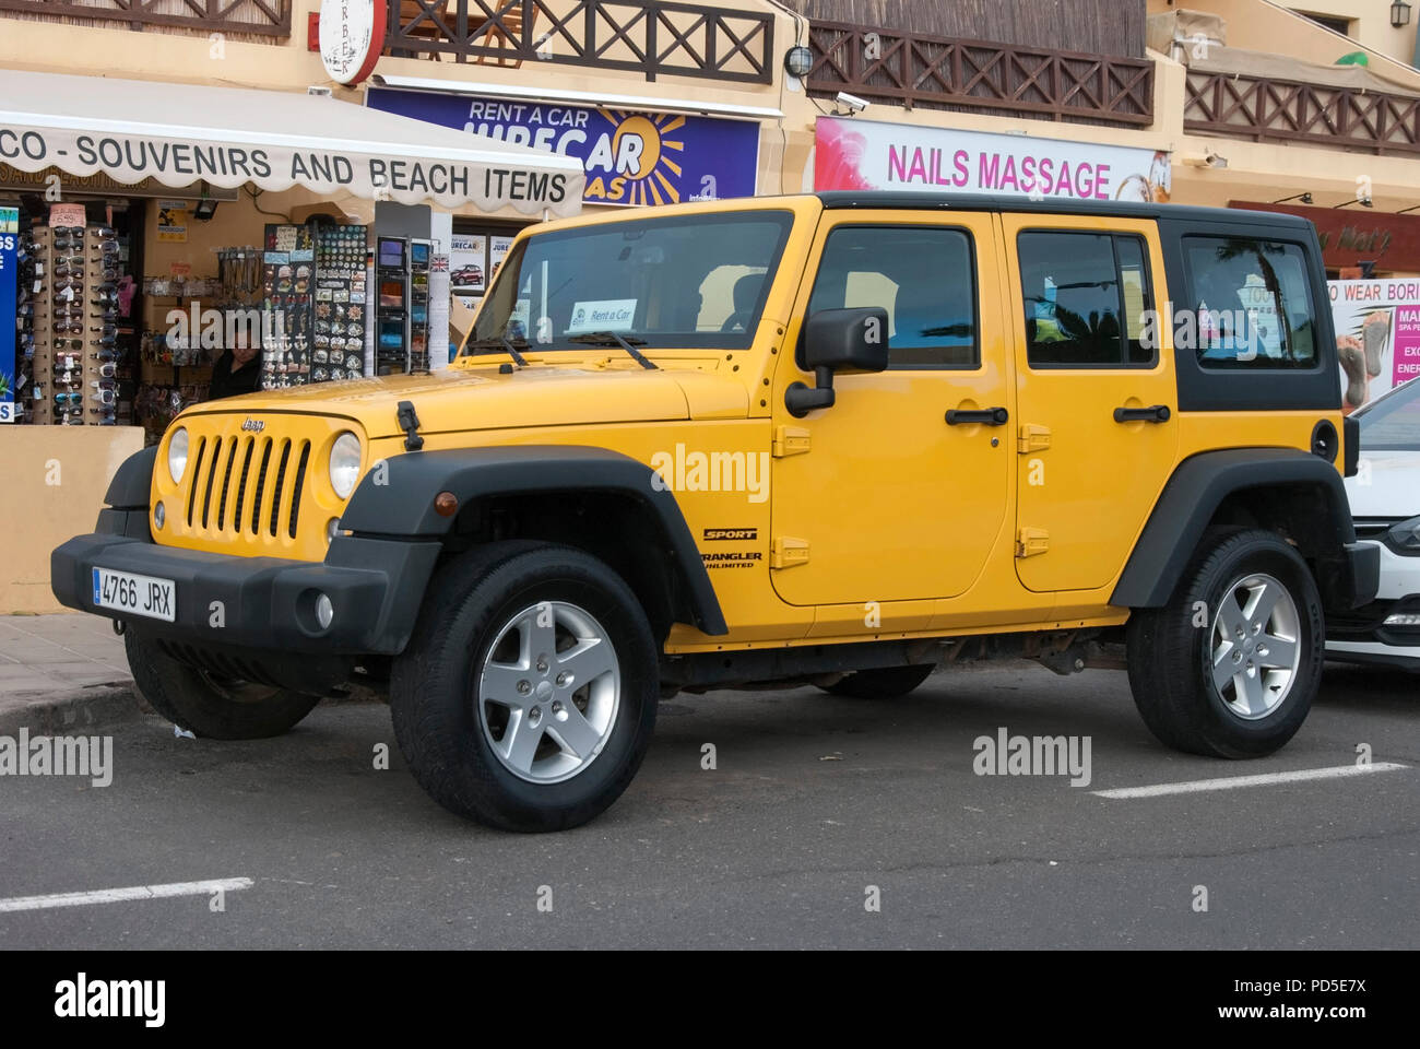
[[[351,496],[341,527],[364,536],[443,539],[454,517],[435,510],[452,492],[463,506],[480,496],[608,492],[630,497],[659,524],[680,573],[696,627],[730,633],[710,576],[674,493],[652,483],[643,462],[605,448],[511,445],[408,452],[372,463]]]

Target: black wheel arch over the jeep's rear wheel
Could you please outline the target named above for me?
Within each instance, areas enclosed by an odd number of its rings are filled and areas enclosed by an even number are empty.
[[[1230,448],[1179,463],[1110,604],[1167,604],[1204,533],[1216,524],[1267,527],[1285,536],[1312,566],[1329,608],[1353,608],[1375,594],[1377,552],[1356,543],[1336,468],[1296,448]]]

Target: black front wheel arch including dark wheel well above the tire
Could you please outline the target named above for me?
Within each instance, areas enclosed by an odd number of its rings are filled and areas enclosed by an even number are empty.
[[[655,470],[619,452],[518,445],[409,452],[366,470],[341,527],[356,536],[439,539],[450,552],[497,539],[544,539],[609,561],[662,625],[728,633],[674,493]],[[435,497],[452,492],[443,516]],[[508,524],[510,512],[518,520]],[[642,557],[648,549],[657,557]]]

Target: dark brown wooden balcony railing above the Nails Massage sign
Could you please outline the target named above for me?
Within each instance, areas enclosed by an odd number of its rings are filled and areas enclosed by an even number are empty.
[[[1153,122],[1153,63],[812,21],[812,95],[839,91],[909,109]]]

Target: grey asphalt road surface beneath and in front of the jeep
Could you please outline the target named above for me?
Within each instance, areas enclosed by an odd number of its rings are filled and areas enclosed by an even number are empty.
[[[977,741],[1001,729],[1088,738],[1091,782],[977,775]],[[622,799],[542,836],[439,809],[381,704],[322,704],[261,742],[178,738],[156,716],[98,731],[109,786],[0,776],[6,947],[1420,944],[1420,678],[1393,672],[1328,669],[1301,733],[1255,762],[1166,751],[1112,671],[947,671],[890,702],[682,694]],[[1098,793],[1359,756],[1403,768]],[[6,911],[209,880],[240,887]]]

